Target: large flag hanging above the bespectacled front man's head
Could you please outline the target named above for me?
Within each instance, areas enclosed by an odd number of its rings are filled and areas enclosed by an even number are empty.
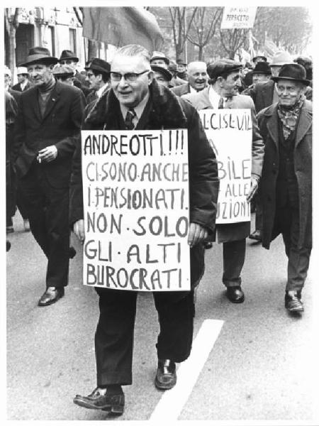
[[[156,18],[142,7],[84,7],[83,35],[116,47],[131,43],[152,52],[163,38]]]

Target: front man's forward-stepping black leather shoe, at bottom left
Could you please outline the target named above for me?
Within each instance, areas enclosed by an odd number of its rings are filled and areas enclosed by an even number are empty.
[[[80,407],[108,411],[113,415],[121,415],[124,412],[125,398],[123,392],[116,395],[107,395],[106,389],[95,388],[87,396],[76,395],[73,398],[73,402]]]

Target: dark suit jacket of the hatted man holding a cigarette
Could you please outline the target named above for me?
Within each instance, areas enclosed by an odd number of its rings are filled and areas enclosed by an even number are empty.
[[[85,107],[82,91],[56,82],[44,116],[40,114],[38,87],[21,93],[14,129],[16,171],[23,178],[38,151],[46,146],[57,147],[57,158],[42,163],[47,180],[54,187],[69,186],[74,148],[80,143],[80,130]]]

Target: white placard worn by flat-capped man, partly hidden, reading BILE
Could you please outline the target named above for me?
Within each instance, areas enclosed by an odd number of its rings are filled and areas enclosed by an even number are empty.
[[[218,160],[216,224],[250,221],[252,114],[250,109],[202,109],[206,136]]]

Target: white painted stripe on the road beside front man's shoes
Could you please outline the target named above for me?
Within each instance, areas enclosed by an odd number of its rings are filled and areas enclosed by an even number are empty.
[[[181,363],[177,370],[177,384],[169,391],[164,391],[150,420],[177,420],[213,349],[222,326],[223,321],[221,320],[203,322],[194,339],[189,359]]]

